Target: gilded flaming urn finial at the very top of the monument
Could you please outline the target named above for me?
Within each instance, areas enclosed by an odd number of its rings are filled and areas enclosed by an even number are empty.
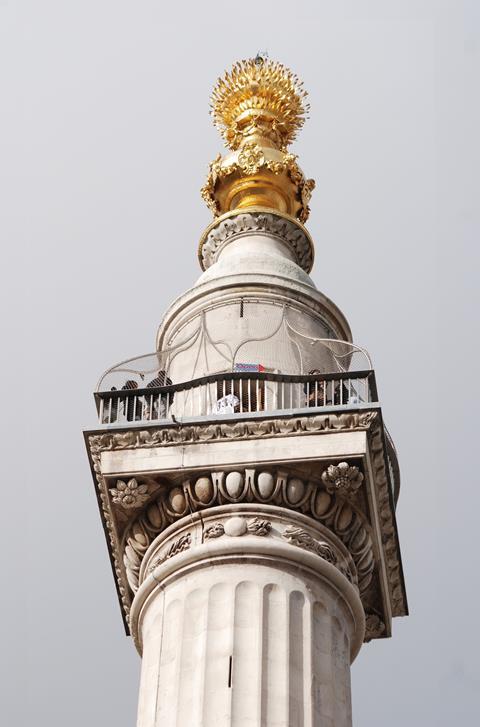
[[[287,151],[309,111],[303,83],[281,63],[257,56],[220,78],[211,114],[231,150],[211,164],[202,197],[213,214],[261,208],[305,222],[315,182]]]

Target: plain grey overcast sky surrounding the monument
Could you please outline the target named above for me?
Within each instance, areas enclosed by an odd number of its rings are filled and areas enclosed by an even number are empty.
[[[354,724],[477,723],[479,15],[0,0],[2,724],[135,724],[82,429],[101,372],[153,350],[199,275],[210,90],[264,49],[310,92],[313,278],[372,355],[402,470],[411,616],[355,662]]]

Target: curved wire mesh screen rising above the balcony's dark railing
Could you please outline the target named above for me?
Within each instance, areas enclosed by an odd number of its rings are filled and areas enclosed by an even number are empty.
[[[179,384],[229,371],[303,375],[372,368],[363,348],[329,333],[305,310],[237,299],[202,311],[162,351],[108,369],[97,391]]]

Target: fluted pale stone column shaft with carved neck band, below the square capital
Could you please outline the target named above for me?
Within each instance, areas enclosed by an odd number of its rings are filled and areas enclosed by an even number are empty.
[[[349,727],[364,614],[348,551],[298,513],[215,507],[147,551],[138,727]]]

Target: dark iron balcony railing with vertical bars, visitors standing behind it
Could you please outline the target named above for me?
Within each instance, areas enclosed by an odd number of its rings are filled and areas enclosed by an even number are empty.
[[[373,371],[315,376],[226,373],[171,386],[99,391],[100,424],[251,414],[376,402]]]

